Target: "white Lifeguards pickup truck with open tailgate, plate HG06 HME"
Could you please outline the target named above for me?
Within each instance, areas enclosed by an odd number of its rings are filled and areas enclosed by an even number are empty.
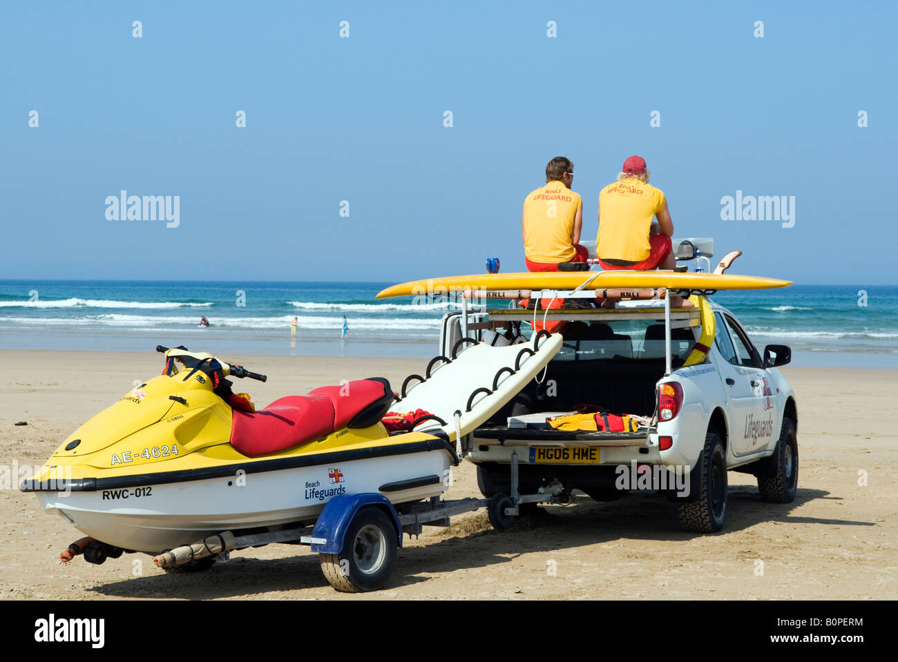
[[[655,489],[678,502],[688,531],[723,526],[730,470],[757,476],[763,501],[792,501],[797,405],[778,370],[791,352],[771,344],[760,353],[729,310],[708,302],[713,325],[698,309],[668,310],[669,338],[657,302],[555,311],[555,319],[568,320],[559,353],[468,440],[484,496],[510,492],[515,453],[521,492],[560,485],[562,500],[579,489],[612,501],[629,490]],[[497,319],[513,319],[509,312],[469,313],[468,327],[479,334]],[[446,316],[441,342],[452,321],[453,314]],[[714,328],[713,342],[705,327]],[[703,333],[706,355],[684,367]],[[546,422],[578,405],[635,415],[643,424],[638,431],[565,431]]]

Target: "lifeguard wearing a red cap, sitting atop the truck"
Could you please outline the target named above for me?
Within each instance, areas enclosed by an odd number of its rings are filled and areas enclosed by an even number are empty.
[[[599,194],[595,252],[603,269],[673,269],[674,222],[665,194],[648,183],[646,161],[630,156],[616,182]],[[657,219],[657,222],[655,222]],[[682,297],[671,300],[682,306]]]

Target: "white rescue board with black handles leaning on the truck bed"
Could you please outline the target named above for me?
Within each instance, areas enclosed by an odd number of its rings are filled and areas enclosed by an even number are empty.
[[[455,412],[461,412],[464,436],[489,420],[545,368],[546,363],[559,353],[562,341],[560,334],[541,335],[535,352],[533,340],[505,347],[484,343],[466,345],[452,362],[431,361],[430,376],[424,381],[409,377],[406,396],[394,402],[390,410],[407,414],[423,409],[434,414],[445,424],[428,420],[419,423],[415,431],[433,433],[442,430],[450,440],[455,439]]]

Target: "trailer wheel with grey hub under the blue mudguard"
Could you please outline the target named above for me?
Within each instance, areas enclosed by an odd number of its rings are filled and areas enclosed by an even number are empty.
[[[339,554],[319,554],[330,586],[344,593],[383,588],[396,562],[396,529],[377,508],[363,508],[352,519]]]

